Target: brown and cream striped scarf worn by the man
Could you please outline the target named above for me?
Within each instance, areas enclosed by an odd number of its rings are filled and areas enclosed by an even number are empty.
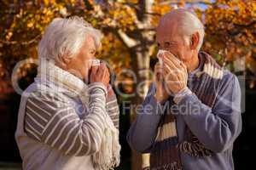
[[[203,62],[203,71],[195,73],[196,77],[193,81],[199,83],[191,82],[196,86],[189,88],[201,99],[202,103],[212,107],[218,93],[216,87],[219,87],[218,84],[223,77],[223,70],[209,54],[201,52],[199,55]],[[174,105],[172,97],[167,102]],[[187,135],[185,140],[178,143],[176,117],[170,109],[167,110],[161,117],[153,149],[150,152],[151,170],[183,169],[180,152],[195,157],[212,156],[212,150],[207,150],[189,130],[189,127],[186,127],[185,132]]]

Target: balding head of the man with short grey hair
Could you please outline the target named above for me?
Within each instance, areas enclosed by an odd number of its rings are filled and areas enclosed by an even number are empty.
[[[156,28],[155,41],[183,61],[189,71],[199,63],[198,53],[204,37],[201,21],[186,9],[174,9],[165,14]]]

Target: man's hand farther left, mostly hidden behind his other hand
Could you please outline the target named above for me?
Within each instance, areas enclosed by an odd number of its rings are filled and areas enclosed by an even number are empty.
[[[164,77],[162,73],[163,73],[163,68],[160,65],[160,63],[157,62],[154,65],[154,84],[156,86],[156,93],[154,94],[154,97],[159,102],[163,102],[169,97],[169,95],[166,92]]]

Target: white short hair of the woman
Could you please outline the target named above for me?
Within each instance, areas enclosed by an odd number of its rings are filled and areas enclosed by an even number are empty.
[[[101,47],[101,31],[90,26],[83,18],[55,18],[38,44],[39,59],[61,63],[63,55],[73,57],[73,54],[77,54],[88,36],[94,38],[96,48]]]

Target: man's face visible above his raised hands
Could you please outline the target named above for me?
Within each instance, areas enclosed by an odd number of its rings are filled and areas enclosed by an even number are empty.
[[[192,58],[192,51],[188,42],[185,42],[178,33],[178,29],[175,21],[169,23],[160,22],[156,29],[156,43],[159,49],[169,51],[188,66]]]

